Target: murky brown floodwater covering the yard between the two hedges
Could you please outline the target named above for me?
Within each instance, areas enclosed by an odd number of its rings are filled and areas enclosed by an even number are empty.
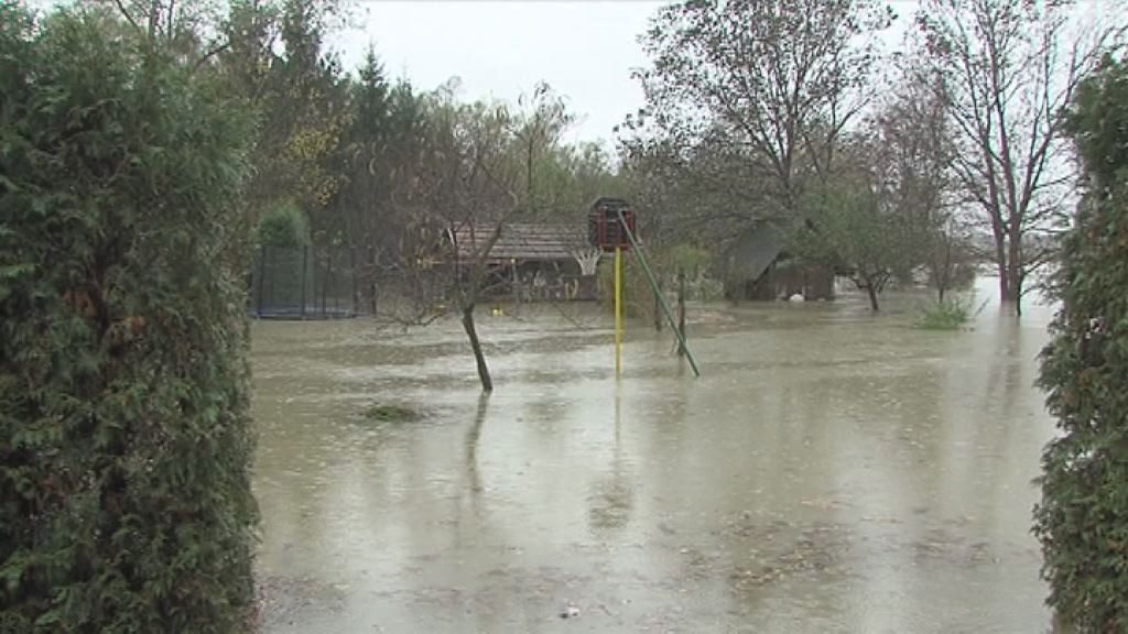
[[[1050,309],[691,307],[703,377],[594,307],[256,323],[261,623],[340,632],[1047,632]],[[566,317],[566,318],[565,318]],[[368,421],[373,403],[417,408]]]

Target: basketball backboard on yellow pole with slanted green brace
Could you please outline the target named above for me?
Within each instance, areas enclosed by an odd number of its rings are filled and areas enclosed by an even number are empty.
[[[686,345],[685,324],[679,325],[675,322],[670,306],[666,302],[658,280],[654,279],[654,272],[651,271],[650,263],[646,262],[646,254],[643,253],[638,239],[635,237],[635,214],[631,205],[623,199],[601,197],[596,200],[588,212],[588,239],[601,250],[615,254],[615,376],[619,376],[623,371],[623,250],[631,249],[646,275],[646,282],[654,292],[654,298],[670,324],[670,329],[673,331],[673,335],[678,340],[678,350],[685,353],[694,376],[700,377],[697,361],[689,351],[689,346]]]

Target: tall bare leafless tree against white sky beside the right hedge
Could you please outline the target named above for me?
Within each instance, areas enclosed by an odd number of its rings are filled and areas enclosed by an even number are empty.
[[[1069,222],[1065,108],[1122,35],[1075,21],[1067,2],[1031,0],[926,0],[917,16],[955,126],[955,173],[990,229],[999,296],[1020,315],[1028,278]]]

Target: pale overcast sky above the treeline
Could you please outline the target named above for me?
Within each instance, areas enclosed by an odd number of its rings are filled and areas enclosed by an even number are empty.
[[[637,43],[664,2],[618,1],[360,1],[356,26],[332,45],[354,69],[369,43],[393,77],[430,90],[453,76],[466,99],[514,102],[540,80],[569,98],[579,123],[572,140],[614,140],[611,129],[643,105],[631,69],[644,67]],[[892,2],[900,34],[916,1]]]

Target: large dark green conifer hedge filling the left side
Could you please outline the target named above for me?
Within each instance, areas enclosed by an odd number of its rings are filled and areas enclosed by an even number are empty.
[[[249,126],[138,39],[0,3],[2,632],[248,628]]]

